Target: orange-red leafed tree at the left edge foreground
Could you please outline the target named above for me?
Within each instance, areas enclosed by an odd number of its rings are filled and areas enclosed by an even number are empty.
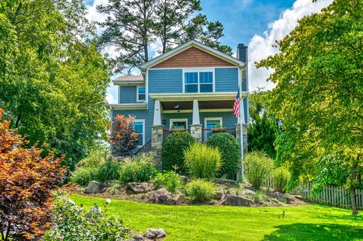
[[[0,120],[2,110],[0,109]],[[61,158],[40,157],[43,150],[24,148],[27,140],[0,123],[1,240],[38,240],[50,227],[52,191],[66,170]]]

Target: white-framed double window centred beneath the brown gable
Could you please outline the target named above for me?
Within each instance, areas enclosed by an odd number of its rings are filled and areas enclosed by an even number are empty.
[[[212,71],[184,72],[185,93],[213,92],[213,85]]]

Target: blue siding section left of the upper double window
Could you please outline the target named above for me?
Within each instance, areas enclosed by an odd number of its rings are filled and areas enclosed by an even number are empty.
[[[149,93],[182,93],[182,69],[149,70]]]

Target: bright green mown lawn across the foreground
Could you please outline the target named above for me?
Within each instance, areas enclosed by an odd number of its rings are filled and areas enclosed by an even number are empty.
[[[72,195],[84,208],[104,199]],[[265,212],[265,210],[267,212]],[[285,219],[279,219],[285,211]],[[363,240],[363,215],[323,205],[283,208],[172,206],[112,200],[108,215],[118,215],[137,231],[163,228],[166,240]]]

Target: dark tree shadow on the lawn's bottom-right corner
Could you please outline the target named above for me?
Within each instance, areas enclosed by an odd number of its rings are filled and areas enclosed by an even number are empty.
[[[361,240],[363,228],[339,224],[289,224],[265,235],[263,240]]]

